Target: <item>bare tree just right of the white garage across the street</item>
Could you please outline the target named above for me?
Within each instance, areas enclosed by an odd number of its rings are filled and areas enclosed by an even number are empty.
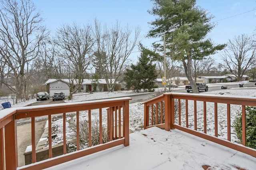
[[[75,75],[73,79],[77,80],[78,92],[81,92],[81,84],[83,83],[86,69],[90,65],[92,46],[94,45],[90,25],[84,25],[83,27],[78,26],[76,23],[62,25],[56,33],[55,43],[58,46],[58,55],[63,58],[65,66],[70,70],[70,74]]]

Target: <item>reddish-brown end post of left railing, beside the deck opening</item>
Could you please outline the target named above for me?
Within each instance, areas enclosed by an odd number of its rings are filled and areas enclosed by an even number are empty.
[[[124,101],[124,107],[123,107],[123,123],[124,123],[124,146],[129,145],[129,101]]]

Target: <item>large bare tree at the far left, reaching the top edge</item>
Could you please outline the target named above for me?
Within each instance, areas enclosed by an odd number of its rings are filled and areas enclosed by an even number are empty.
[[[14,84],[4,82],[18,98],[26,93],[26,69],[48,36],[42,18],[30,0],[0,0],[0,55],[10,66]]]

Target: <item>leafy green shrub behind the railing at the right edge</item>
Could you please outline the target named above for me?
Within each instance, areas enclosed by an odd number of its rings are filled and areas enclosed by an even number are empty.
[[[237,138],[242,142],[242,113],[238,112],[233,123]],[[256,149],[256,107],[246,107],[246,147]]]

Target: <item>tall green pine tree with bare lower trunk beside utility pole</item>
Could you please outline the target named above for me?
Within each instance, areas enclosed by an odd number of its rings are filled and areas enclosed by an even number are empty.
[[[152,29],[149,37],[161,37],[166,34],[166,49],[175,47],[172,59],[181,61],[184,72],[190,81],[193,93],[198,93],[192,76],[192,59],[204,57],[221,50],[225,45],[214,46],[206,34],[214,25],[210,23],[212,16],[196,6],[196,0],[152,0],[154,6],[150,14],[158,16],[150,22]],[[170,49],[171,50],[171,49]]]

